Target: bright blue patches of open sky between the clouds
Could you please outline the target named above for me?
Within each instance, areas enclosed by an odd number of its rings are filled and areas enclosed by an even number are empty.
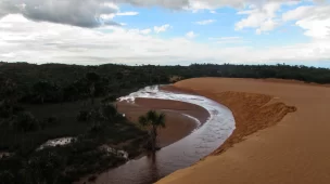
[[[277,15],[282,12],[288,12],[303,5],[312,5],[313,2],[301,2],[293,5],[283,5]],[[245,28],[244,30],[234,31],[236,23],[246,17],[239,15],[234,8],[225,6],[214,10],[201,10],[198,12],[191,11],[175,11],[162,8],[135,8],[132,5],[120,6],[123,12],[138,12],[136,16],[116,16],[114,19],[118,23],[125,23],[125,27],[131,29],[147,29],[153,26],[162,26],[169,24],[166,32],[158,35],[162,38],[182,37],[189,31],[194,31],[199,36],[195,41],[208,42],[208,38],[217,37],[241,37],[244,41],[250,42],[250,45],[267,47],[267,45],[283,45],[287,43],[305,42],[309,38],[305,37],[304,30],[294,26],[294,21],[287,22],[272,31],[261,35],[255,34],[254,28]],[[248,10],[248,9],[245,9]],[[199,25],[196,22],[214,21],[207,25]],[[281,39],[278,39],[281,38]],[[283,42],[284,40],[284,42]],[[258,42],[256,42],[258,41]]]

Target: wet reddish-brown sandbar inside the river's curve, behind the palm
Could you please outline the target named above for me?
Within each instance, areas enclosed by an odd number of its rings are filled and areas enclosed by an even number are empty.
[[[132,122],[138,122],[138,118],[150,109],[164,113],[166,128],[158,130],[157,137],[161,147],[181,140],[198,127],[195,120],[185,115],[199,119],[201,123],[210,116],[206,109],[198,105],[168,100],[136,98],[135,104],[123,101],[117,103],[117,108]]]

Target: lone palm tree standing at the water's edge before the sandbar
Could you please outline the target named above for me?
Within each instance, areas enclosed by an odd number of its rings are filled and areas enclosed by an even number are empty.
[[[149,110],[144,116],[139,117],[139,123],[149,130],[151,149],[152,152],[155,152],[157,129],[165,128],[165,114],[158,114],[155,110]]]

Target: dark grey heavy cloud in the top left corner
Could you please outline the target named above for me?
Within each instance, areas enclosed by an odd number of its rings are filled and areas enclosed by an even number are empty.
[[[0,0],[0,18],[8,14],[22,14],[38,22],[51,22],[79,27],[117,25],[101,15],[117,13],[118,6],[105,0]]]

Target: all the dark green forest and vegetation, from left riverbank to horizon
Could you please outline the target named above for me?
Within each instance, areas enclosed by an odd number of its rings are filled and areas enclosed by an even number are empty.
[[[147,133],[114,101],[145,86],[194,77],[330,83],[330,69],[279,65],[79,66],[0,63],[0,184],[72,183],[145,152]],[[48,140],[66,146],[40,148]],[[106,146],[111,146],[106,148]],[[93,176],[90,178],[93,180]]]

